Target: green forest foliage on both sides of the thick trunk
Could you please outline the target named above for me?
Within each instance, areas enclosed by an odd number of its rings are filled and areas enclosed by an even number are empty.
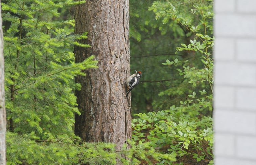
[[[131,148],[74,135],[73,7],[84,1],[2,1],[7,164],[213,164],[212,0],[130,1]],[[129,159],[123,159],[121,155]]]

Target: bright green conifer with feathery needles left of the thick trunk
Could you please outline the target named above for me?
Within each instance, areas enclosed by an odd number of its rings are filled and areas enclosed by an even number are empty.
[[[6,110],[9,130],[36,133],[40,139],[72,133],[74,113],[79,113],[72,90],[80,85],[75,75],[96,67],[89,57],[74,63],[73,45],[86,35],[74,35],[74,20],[55,21],[58,8],[83,3],[73,1],[8,1],[2,3]],[[8,23],[10,25],[8,26]]]

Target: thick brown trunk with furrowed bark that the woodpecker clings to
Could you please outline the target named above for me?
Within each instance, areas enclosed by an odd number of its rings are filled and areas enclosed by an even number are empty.
[[[130,76],[129,0],[87,0],[75,7],[75,33],[88,32],[75,47],[75,62],[91,55],[98,68],[77,76],[82,90],[76,91],[78,108],[75,134],[88,142],[116,143],[120,150],[131,138],[130,97],[125,98],[125,81]]]

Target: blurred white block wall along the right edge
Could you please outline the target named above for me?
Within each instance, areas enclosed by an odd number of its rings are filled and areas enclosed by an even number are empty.
[[[256,0],[213,1],[215,165],[256,165]]]

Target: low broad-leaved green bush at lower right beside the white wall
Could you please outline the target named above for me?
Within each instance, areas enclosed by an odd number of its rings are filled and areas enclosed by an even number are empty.
[[[212,118],[198,117],[193,106],[172,106],[168,110],[136,114],[133,119],[134,141],[149,141],[163,153],[171,153],[178,159],[177,163],[193,162],[212,163]],[[194,159],[194,160],[193,160]],[[200,162],[200,163],[202,163]],[[163,160],[160,164],[170,163]]]

